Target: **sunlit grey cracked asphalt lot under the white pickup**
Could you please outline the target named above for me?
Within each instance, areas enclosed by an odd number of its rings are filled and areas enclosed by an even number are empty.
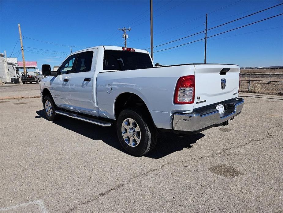
[[[228,126],[162,134],[144,157],[113,127],[47,121],[39,98],[0,100],[0,212],[282,212],[283,96],[240,97]]]

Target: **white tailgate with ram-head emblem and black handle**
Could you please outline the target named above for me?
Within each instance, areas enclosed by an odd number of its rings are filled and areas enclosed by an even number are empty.
[[[228,64],[195,64],[194,108],[238,97],[240,68]]]

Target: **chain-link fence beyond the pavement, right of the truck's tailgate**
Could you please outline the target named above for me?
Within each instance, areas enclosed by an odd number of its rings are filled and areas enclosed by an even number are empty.
[[[283,95],[283,73],[241,73],[240,91]]]

